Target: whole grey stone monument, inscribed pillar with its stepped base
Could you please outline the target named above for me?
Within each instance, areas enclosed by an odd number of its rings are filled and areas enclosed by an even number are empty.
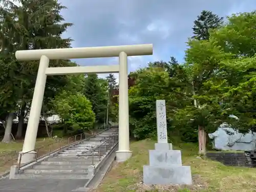
[[[190,166],[182,166],[181,151],[167,141],[165,100],[156,101],[157,143],[149,150],[150,165],[143,166],[144,184],[192,184]]]

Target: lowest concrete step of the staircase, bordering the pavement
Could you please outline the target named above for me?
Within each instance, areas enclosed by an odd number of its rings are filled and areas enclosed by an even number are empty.
[[[69,174],[20,174],[15,176],[16,179],[90,179],[88,174],[77,174],[77,173],[69,173]]]

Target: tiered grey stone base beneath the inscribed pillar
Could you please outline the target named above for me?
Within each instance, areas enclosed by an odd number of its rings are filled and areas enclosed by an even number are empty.
[[[156,148],[168,148],[170,143],[156,143]],[[180,150],[150,150],[150,165],[143,166],[143,183],[192,184],[190,166],[182,166]]]

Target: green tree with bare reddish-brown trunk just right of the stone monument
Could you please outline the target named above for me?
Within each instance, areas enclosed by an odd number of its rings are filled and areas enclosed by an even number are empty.
[[[205,155],[206,134],[215,131],[221,120],[221,106],[218,95],[208,92],[205,83],[215,78],[220,63],[231,57],[223,52],[220,47],[213,45],[208,40],[190,40],[189,49],[186,51],[186,65],[188,70],[188,88],[191,105],[181,109],[178,113],[179,121],[188,122],[198,126],[199,154]],[[181,114],[187,114],[186,117]],[[184,120],[182,120],[182,116]],[[189,118],[188,118],[189,116]],[[190,122],[193,121],[193,122]],[[195,128],[191,130],[194,132]]]

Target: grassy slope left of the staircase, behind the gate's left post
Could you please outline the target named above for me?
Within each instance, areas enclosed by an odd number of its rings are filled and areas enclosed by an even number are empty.
[[[38,157],[49,153],[49,144],[54,143],[51,146],[51,151],[59,148],[60,143],[56,143],[56,140],[52,138],[39,138],[36,140],[36,148],[45,146],[38,150]],[[64,138],[61,142],[61,146],[66,145],[67,138]],[[17,163],[18,153],[22,151],[23,140],[13,141],[10,143],[0,143],[0,175],[10,170],[10,166]]]

